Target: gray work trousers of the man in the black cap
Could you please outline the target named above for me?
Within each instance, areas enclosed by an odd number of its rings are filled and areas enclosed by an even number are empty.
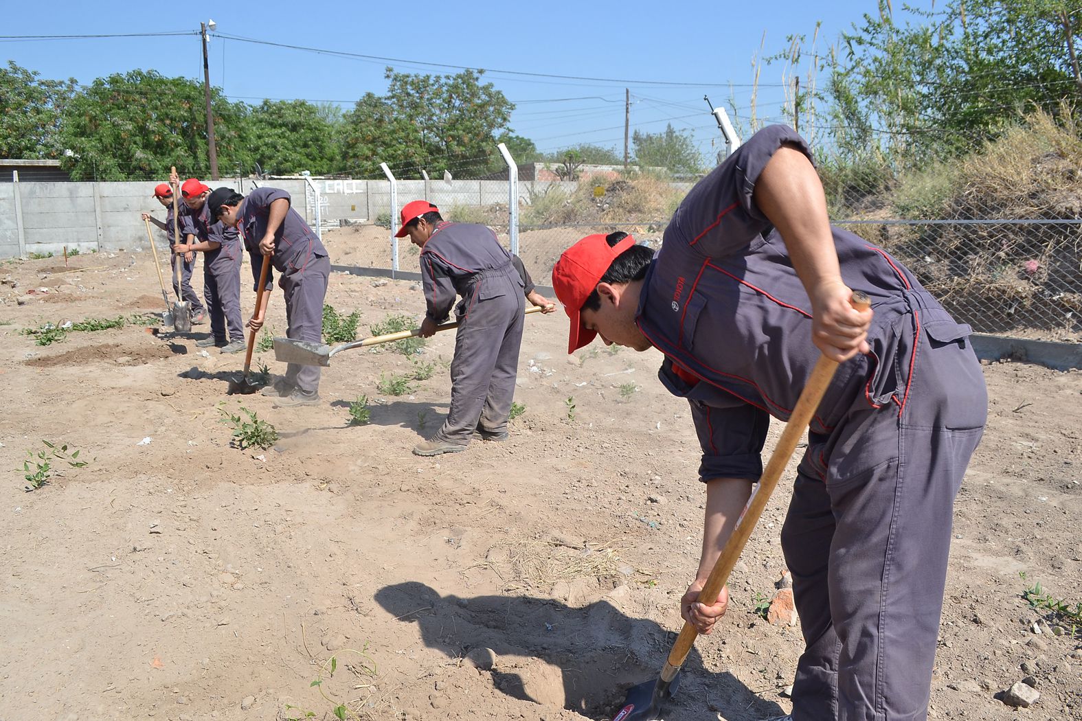
[[[264,258],[269,263],[269,258]],[[286,337],[309,343],[324,342],[324,298],[331,275],[331,262],[326,255],[308,259],[303,270],[288,272],[278,278],[278,285],[286,295]],[[305,393],[319,391],[319,366],[286,366],[286,383]]]

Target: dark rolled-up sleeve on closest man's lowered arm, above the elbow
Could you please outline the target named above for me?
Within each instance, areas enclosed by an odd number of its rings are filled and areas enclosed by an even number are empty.
[[[688,400],[702,448],[699,480],[747,478],[763,475],[763,444],[770,416],[753,405],[720,409]]]

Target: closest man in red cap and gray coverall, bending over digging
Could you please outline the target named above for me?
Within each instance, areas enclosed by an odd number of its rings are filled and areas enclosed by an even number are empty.
[[[805,651],[795,721],[926,718],[954,496],[987,395],[971,329],[900,263],[831,227],[807,144],[756,133],[700,181],[655,254],[589,236],[553,269],[568,350],[595,335],[664,355],[687,398],[707,485],[702,556],[681,614],[709,633],[728,591],[699,599],[820,352],[843,363],[808,429],[781,546]],[[850,290],[852,289],[852,290]],[[871,296],[858,311],[852,292]]]

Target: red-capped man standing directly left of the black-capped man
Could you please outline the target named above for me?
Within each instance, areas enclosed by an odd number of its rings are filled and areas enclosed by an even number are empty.
[[[185,242],[177,242],[173,252],[203,254],[203,298],[210,310],[210,337],[196,345],[215,346],[223,353],[240,352],[248,347],[240,321],[240,239],[236,229],[211,217],[207,206],[210,188],[198,178],[184,182],[181,197],[184,199],[181,232]]]

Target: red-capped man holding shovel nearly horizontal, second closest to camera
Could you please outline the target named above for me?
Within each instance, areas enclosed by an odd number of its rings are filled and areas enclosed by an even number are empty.
[[[472,438],[507,439],[523,341],[524,297],[542,312],[555,304],[537,292],[522,261],[504,250],[491,228],[448,223],[439,209],[414,200],[401,210],[397,238],[421,249],[427,306],[421,336],[431,337],[447,320],[454,298],[459,321],[451,361],[451,408],[443,427],[413,453],[434,456],[465,450]]]

